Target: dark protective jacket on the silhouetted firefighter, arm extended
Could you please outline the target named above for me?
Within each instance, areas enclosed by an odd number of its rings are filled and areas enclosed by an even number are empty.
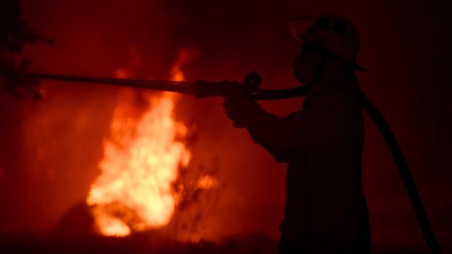
[[[241,121],[254,142],[289,164],[280,253],[370,253],[359,96],[314,86],[302,110],[286,117],[241,101]]]

